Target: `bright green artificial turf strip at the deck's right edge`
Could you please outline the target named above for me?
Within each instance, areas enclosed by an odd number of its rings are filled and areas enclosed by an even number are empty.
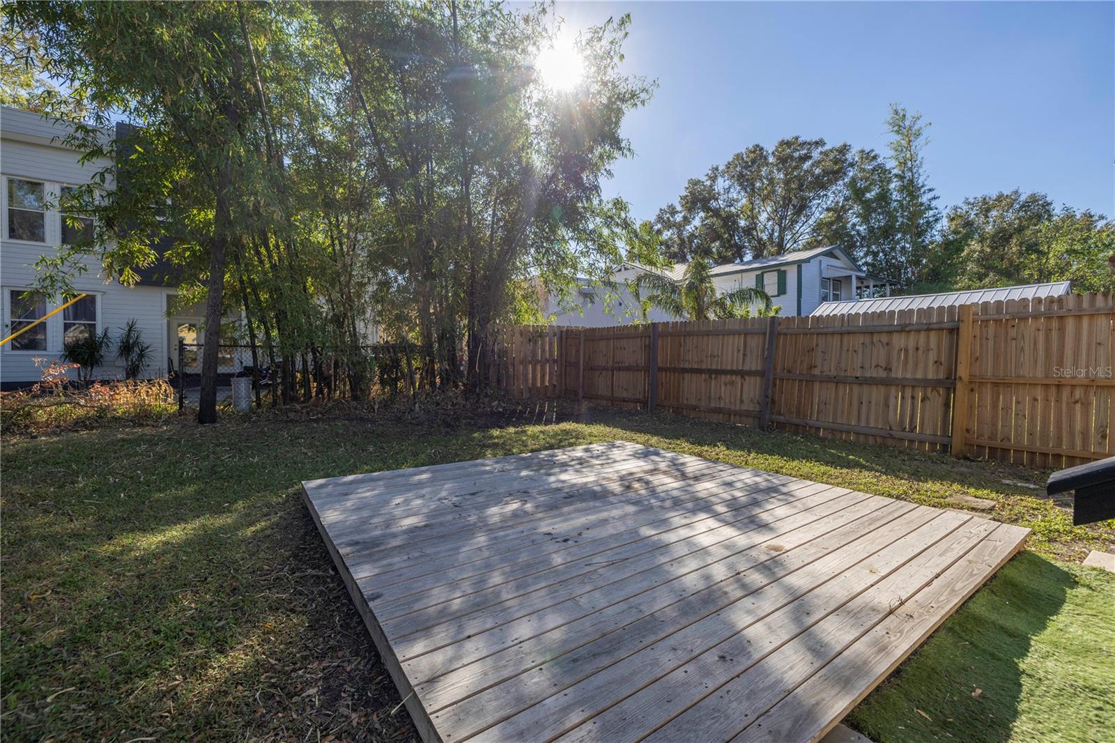
[[[1112,741],[1115,573],[1022,552],[849,722],[879,743]]]

